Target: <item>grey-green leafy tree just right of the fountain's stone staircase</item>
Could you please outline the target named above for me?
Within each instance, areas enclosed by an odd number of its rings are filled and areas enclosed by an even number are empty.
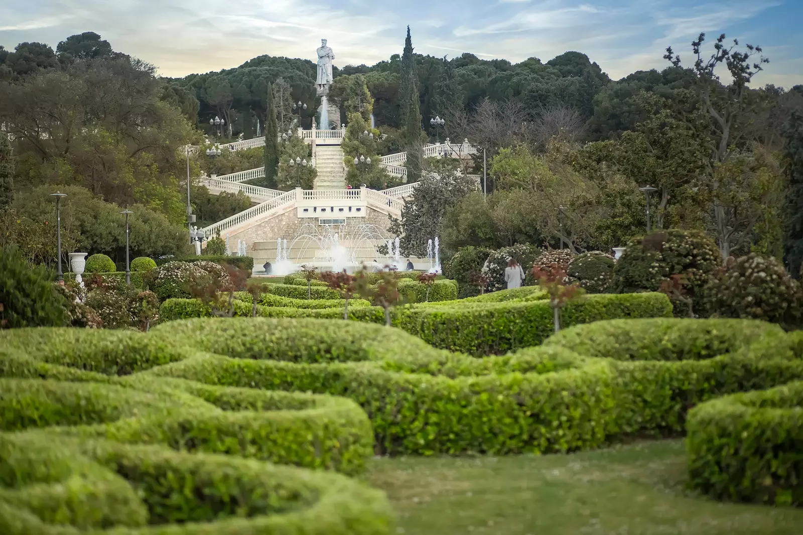
[[[440,235],[446,210],[477,189],[474,178],[458,174],[451,161],[436,160],[431,173],[422,174],[418,186],[402,208],[402,218],[390,224],[400,236],[402,254],[426,255],[426,242]]]

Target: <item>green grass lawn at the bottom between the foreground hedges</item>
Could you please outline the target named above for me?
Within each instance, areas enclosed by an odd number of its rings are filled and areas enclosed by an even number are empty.
[[[572,455],[377,458],[408,535],[801,535],[803,508],[723,504],[687,492],[682,440]]]

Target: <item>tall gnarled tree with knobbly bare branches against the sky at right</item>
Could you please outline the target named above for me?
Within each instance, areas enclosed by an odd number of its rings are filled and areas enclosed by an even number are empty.
[[[761,47],[754,47],[751,44],[746,45],[747,51],[736,50],[739,46],[737,39],[733,40],[731,47],[727,47],[724,44],[724,34],[716,39],[714,53],[704,59],[702,52],[704,41],[705,34],[701,33],[699,38],[691,43],[691,49],[697,56],[692,71],[699,98],[711,116],[710,135],[714,147],[707,160],[708,178],[710,190],[714,192],[711,196],[711,205],[715,234],[724,260],[731,255],[732,240],[738,239],[740,233],[736,233],[735,229],[729,226],[732,207],[726,206],[718,193],[721,189],[720,179],[726,176],[721,172],[726,169],[722,165],[726,164],[732,154],[732,147],[740,140],[741,132],[737,127],[748,108],[748,84],[753,76],[763,70],[764,64],[769,63],[769,59],[762,55]],[[758,59],[752,60],[756,55],[759,55]],[[680,56],[675,55],[672,47],[666,48],[666,55],[663,57],[674,67],[681,67]],[[720,66],[725,67],[730,75],[728,85],[721,84],[716,74]],[[716,172],[718,166],[719,173]],[[730,188],[726,186],[724,190]]]

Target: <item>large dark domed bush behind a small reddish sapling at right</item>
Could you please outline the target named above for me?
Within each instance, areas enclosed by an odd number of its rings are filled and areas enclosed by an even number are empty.
[[[655,231],[634,238],[613,270],[617,292],[655,292],[673,275],[685,276],[695,311],[701,310],[699,293],[722,259],[714,241],[699,231]],[[678,313],[685,307],[676,306]]]

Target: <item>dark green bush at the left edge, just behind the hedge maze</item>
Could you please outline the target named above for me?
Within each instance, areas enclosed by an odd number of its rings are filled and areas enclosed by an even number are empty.
[[[64,297],[53,273],[32,267],[14,247],[0,247],[0,329],[64,325]]]

